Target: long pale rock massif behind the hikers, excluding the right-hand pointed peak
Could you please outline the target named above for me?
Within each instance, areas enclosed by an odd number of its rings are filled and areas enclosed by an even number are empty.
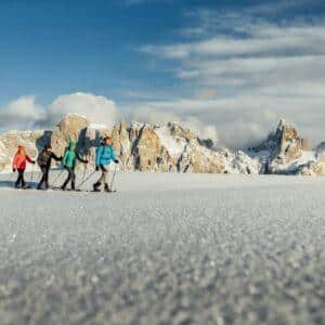
[[[258,172],[236,162],[240,155],[224,154],[206,148],[198,136],[179,123],[152,126],[120,122],[113,130],[91,125],[87,118],[69,114],[63,118],[53,132],[9,132],[0,138],[0,168],[10,165],[18,144],[24,144],[31,156],[51,143],[57,155],[63,155],[69,140],[78,142],[80,154],[94,167],[95,148],[105,135],[113,138],[116,153],[123,170],[160,171],[160,172]],[[244,160],[245,160],[244,159]],[[81,165],[80,165],[81,166]]]

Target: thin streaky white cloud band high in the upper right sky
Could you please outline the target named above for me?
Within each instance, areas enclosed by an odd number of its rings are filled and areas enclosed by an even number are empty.
[[[244,29],[246,27],[246,29]],[[235,55],[275,55],[283,52],[325,53],[325,26],[285,26],[266,23],[242,26],[242,36],[217,34],[194,42],[167,46],[144,46],[143,52],[165,58],[184,60],[195,55],[235,56]]]

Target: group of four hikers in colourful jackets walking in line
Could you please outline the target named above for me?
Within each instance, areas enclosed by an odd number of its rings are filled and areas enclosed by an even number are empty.
[[[29,186],[25,182],[24,172],[26,170],[27,162],[37,162],[42,172],[42,177],[37,185],[37,190],[48,190],[50,187],[49,173],[51,169],[52,159],[56,161],[62,161],[63,168],[68,172],[66,180],[60,188],[62,191],[65,191],[67,185],[70,183],[72,191],[76,191],[76,162],[77,160],[79,160],[80,162],[88,164],[89,161],[81,158],[77,150],[77,144],[74,141],[69,142],[62,157],[57,157],[52,152],[51,145],[47,144],[43,151],[38,155],[36,161],[28,156],[25,147],[23,145],[20,145],[14,156],[12,165],[13,172],[18,172],[18,177],[15,182],[15,187],[29,188]],[[114,161],[115,164],[119,162],[113,147],[112,139],[110,136],[106,136],[103,139],[102,143],[96,148],[95,170],[101,171],[102,173],[98,182],[93,184],[94,192],[100,192],[100,188],[103,184],[105,192],[112,192],[112,188],[108,184],[108,166],[112,164],[112,161]]]

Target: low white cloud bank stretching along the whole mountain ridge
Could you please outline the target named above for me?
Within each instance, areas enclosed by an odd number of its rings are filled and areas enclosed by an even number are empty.
[[[203,139],[210,138],[216,143],[220,141],[221,144],[242,147],[265,139],[278,119],[285,118],[298,127],[301,136],[316,145],[325,140],[324,96],[314,96],[314,90],[312,95],[307,96],[308,87],[302,86],[302,96],[283,96],[276,93],[276,89],[265,89],[265,94],[212,99],[213,92],[208,91],[198,99],[139,102],[130,108],[118,108],[104,96],[86,93],[58,96],[49,107],[40,107],[34,96],[23,96],[0,109],[0,127],[53,128],[64,114],[78,113],[108,126],[117,119],[162,125],[179,121]],[[291,91],[297,92],[297,89]],[[317,91],[322,92],[322,84]],[[287,94],[287,90],[285,92]]]

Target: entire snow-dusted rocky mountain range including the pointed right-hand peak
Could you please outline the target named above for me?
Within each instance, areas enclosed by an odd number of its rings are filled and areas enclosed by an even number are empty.
[[[94,167],[95,150],[105,135],[113,138],[120,169],[155,172],[325,174],[325,144],[307,151],[295,127],[281,120],[275,132],[248,153],[210,150],[190,129],[177,122],[166,126],[122,121],[112,130],[92,125],[86,117],[68,114],[54,131],[11,131],[0,136],[0,171],[8,169],[17,145],[31,157],[46,143],[63,155],[69,140]],[[81,167],[82,165],[79,165]]]

